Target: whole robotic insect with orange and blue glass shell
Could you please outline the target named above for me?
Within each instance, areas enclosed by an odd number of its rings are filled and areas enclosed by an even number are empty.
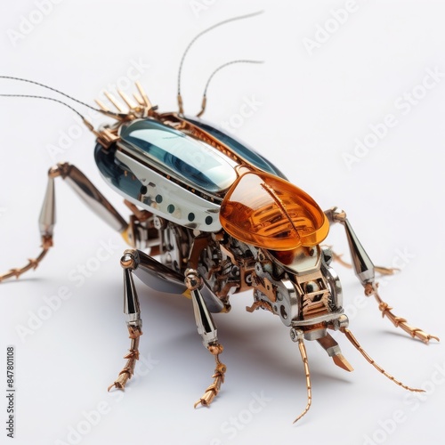
[[[195,407],[208,406],[214,400],[226,372],[219,359],[223,346],[211,314],[229,312],[231,295],[245,290],[252,290],[254,295],[247,311],[261,308],[277,315],[298,344],[307,404],[295,421],[312,404],[304,340],[317,341],[337,366],[352,371],[329,329],[344,333],[384,376],[409,391],[420,391],[378,366],[348,328],[342,286],[331,267],[334,254],[328,247],[321,247],[329,226],[335,223],[344,226],[353,269],[365,295],[374,295],[382,314],[410,336],[425,343],[432,338],[439,340],[409,326],[382,301],[375,279],[377,268],[361,247],[344,211],[333,207],[323,212],[308,194],[287,182],[271,162],[202,120],[205,101],[199,117],[188,117],[183,113],[179,92],[179,112],[159,113],[142,86],[136,85],[136,103],[120,93],[126,111],[109,94],[117,112],[98,102],[101,113],[115,118],[115,124],[96,131],[81,116],[97,137],[94,157],[101,175],[125,198],[132,212],[129,223],[76,166],[58,164],[49,171],[39,218],[42,252],[24,267],[0,275],[0,281],[19,278],[35,269],[53,246],[54,180],[61,177],[132,247],[121,259],[131,344],[125,367],[109,389],[123,389],[138,360],[142,319],[134,286],[136,275],[151,288],[183,294],[193,304],[198,333],[216,363],[214,382]]]

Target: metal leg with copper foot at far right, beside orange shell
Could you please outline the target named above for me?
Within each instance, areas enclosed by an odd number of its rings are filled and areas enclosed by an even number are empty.
[[[396,328],[402,328],[413,338],[418,338],[427,344],[432,338],[439,341],[439,337],[431,336],[420,328],[414,328],[407,323],[407,320],[397,317],[391,311],[392,308],[385,303],[378,294],[378,283],[376,282],[376,267],[372,263],[365,249],[361,246],[357,235],[352,230],[351,223],[346,218],[344,210],[332,207],[325,212],[330,223],[342,223],[346,231],[349,248],[352,255],[352,266],[355,275],[360,279],[360,283],[365,288],[365,295],[374,295],[378,303],[378,309],[382,312],[382,317],[387,317]]]

